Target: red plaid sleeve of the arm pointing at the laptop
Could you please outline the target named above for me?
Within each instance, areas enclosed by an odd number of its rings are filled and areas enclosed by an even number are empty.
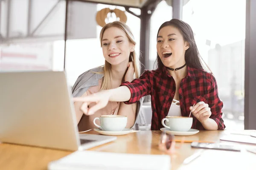
[[[132,82],[123,82],[120,86],[125,85],[131,91],[130,100],[124,102],[125,104],[133,104],[140,100],[143,96],[150,94],[150,71],[145,71],[139,79],[134,79]]]

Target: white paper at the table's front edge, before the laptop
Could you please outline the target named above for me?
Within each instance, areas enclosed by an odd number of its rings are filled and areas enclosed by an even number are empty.
[[[48,170],[170,170],[169,155],[76,151],[48,164]]]

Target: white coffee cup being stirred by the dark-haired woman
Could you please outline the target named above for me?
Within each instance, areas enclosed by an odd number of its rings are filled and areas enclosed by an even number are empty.
[[[167,125],[164,121],[167,122]],[[166,116],[162,119],[162,125],[172,131],[186,132],[192,127],[192,123],[192,117]]]

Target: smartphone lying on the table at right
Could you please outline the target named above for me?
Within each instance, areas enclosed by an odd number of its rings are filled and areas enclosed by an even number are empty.
[[[213,150],[227,150],[240,152],[241,149],[235,145],[225,144],[225,143],[199,143],[192,142],[191,147],[202,148],[202,149],[213,149]]]

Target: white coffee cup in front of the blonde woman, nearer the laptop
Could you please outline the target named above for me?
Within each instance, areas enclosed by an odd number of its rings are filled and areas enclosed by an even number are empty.
[[[96,124],[96,120],[99,119],[100,126]],[[105,131],[122,131],[125,129],[127,124],[127,116],[121,115],[102,115],[96,117],[93,120],[93,124],[96,127],[101,128]]]

